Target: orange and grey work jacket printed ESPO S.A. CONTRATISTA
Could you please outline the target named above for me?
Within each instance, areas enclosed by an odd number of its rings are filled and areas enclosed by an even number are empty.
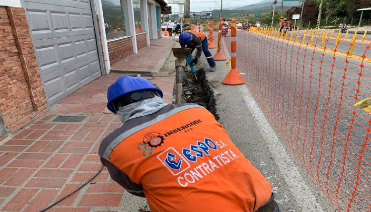
[[[151,212],[255,212],[271,198],[270,183],[199,105],[175,106],[117,138],[101,156],[143,187]]]

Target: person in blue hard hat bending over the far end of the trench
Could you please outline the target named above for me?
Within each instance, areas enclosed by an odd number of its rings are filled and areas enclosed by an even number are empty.
[[[210,71],[216,71],[216,64],[213,59],[213,55],[210,53],[208,48],[208,38],[202,32],[196,32],[193,30],[186,30],[179,35],[180,47],[190,48],[192,52],[197,48],[197,54],[192,61],[191,66],[197,64],[198,59],[201,57],[201,53],[204,52],[205,57],[210,66]]]

